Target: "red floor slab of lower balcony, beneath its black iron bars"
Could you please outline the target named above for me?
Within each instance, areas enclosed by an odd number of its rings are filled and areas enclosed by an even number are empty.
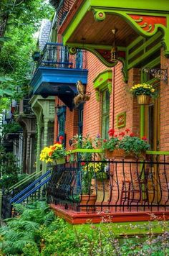
[[[131,211],[125,209],[121,211],[120,207],[113,209],[111,208],[110,212],[100,209],[96,209],[95,213],[93,211],[73,211],[72,209],[64,209],[64,206],[59,206],[55,204],[50,204],[51,208],[54,210],[55,214],[63,219],[65,219],[70,224],[85,224],[85,223],[100,223],[104,222],[130,222],[130,221],[149,221],[152,219],[165,219],[169,220],[169,207],[166,207],[164,210],[163,207],[159,209],[153,207],[153,210],[150,211],[148,206],[142,209],[138,209],[136,206],[132,206]],[[122,207],[121,207],[122,208]],[[139,211],[140,210],[140,211]],[[157,218],[156,218],[157,217]]]

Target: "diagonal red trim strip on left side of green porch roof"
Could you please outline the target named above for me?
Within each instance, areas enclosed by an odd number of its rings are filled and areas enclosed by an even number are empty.
[[[58,29],[58,34],[63,34],[64,31],[67,29],[69,23],[72,21],[74,15],[78,12],[78,9],[82,5],[82,3],[85,0],[76,0],[74,1],[74,4],[72,5],[71,9],[69,10],[67,17],[64,19],[64,22],[61,24],[61,26]]]

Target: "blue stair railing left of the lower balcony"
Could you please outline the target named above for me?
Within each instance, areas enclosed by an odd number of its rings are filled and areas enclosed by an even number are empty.
[[[13,198],[11,198],[10,204],[11,203],[16,203],[17,201],[19,201],[19,198],[26,198],[28,197],[27,195],[29,194],[29,196],[34,193],[35,191],[37,191],[37,189],[39,189],[41,186],[44,185],[44,183],[47,183],[49,181],[49,179],[51,178],[51,175],[47,178],[47,175],[51,174],[51,170],[48,170],[47,173],[44,173],[43,175],[41,175],[39,178],[37,178],[37,180],[34,180],[33,183],[31,183],[29,186],[27,186],[26,188],[24,188],[23,191],[19,192],[16,194],[16,196],[14,196]],[[42,181],[44,178],[47,178],[46,180]],[[39,183],[40,182],[40,183]],[[34,187],[37,183],[39,183],[39,185],[37,187]],[[33,188],[32,188],[33,187]],[[31,191],[29,191],[29,189],[31,189]],[[26,193],[27,191],[29,191],[28,193]],[[25,194],[26,193],[26,194]],[[21,197],[22,196],[22,197]],[[25,197],[26,196],[26,197]],[[23,199],[24,200],[24,199]]]

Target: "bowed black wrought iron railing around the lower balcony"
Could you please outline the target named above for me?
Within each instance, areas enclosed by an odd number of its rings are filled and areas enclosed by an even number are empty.
[[[87,154],[92,158],[83,160]],[[168,155],[148,155],[146,160],[105,160],[100,155],[76,153],[72,163],[58,165],[49,184],[50,201],[74,211],[169,210]]]

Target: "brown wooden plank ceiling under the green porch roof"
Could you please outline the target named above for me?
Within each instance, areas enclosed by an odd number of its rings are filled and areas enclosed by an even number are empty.
[[[125,20],[115,14],[107,14],[102,22],[96,22],[93,12],[87,12],[82,21],[74,30],[67,43],[85,43],[92,45],[110,45],[114,40],[112,29],[117,29],[115,43],[126,47],[138,36]]]

